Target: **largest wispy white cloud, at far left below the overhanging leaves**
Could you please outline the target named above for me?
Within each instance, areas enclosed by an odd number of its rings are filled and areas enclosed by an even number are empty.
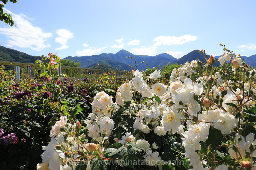
[[[24,14],[14,14],[11,11],[4,8],[4,11],[11,14],[13,21],[17,27],[0,28],[0,33],[7,37],[7,47],[21,47],[30,48],[35,51],[41,51],[46,47],[50,47],[50,44],[45,44],[47,38],[52,36],[52,33],[45,33],[39,27],[34,27]]]

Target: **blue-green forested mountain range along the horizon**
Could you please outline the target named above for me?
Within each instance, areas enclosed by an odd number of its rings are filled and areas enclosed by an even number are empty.
[[[148,56],[148,55],[134,55],[126,50],[120,50],[116,54],[113,53],[102,53],[100,55],[92,55],[92,56],[81,56],[81,57],[72,57],[68,56],[64,59],[76,60],[76,62],[80,62],[80,67],[83,68],[94,68],[95,65],[103,64],[104,67],[107,65],[116,68],[117,70],[128,70],[131,71],[131,67],[133,69],[146,70],[148,67],[159,67],[170,64],[184,64],[185,62],[192,60],[200,60],[203,63],[206,63],[205,55],[202,53],[198,53],[193,50],[190,53],[184,55],[180,59],[174,58],[172,55],[167,53],[158,54],[156,56]],[[128,57],[128,58],[127,58]],[[220,56],[216,56],[217,59]],[[209,55],[207,56],[209,58]],[[242,56],[244,61],[249,63],[250,66],[256,67],[256,54],[250,57]],[[21,63],[34,63],[36,59],[40,59],[39,56],[31,56],[26,53],[19,52],[17,50],[13,50],[10,48],[6,48],[0,46],[0,61],[11,61],[11,62],[21,62]],[[136,64],[135,64],[136,61]],[[146,64],[147,63],[147,64]],[[220,63],[215,62],[214,66],[218,66]],[[148,66],[148,67],[147,67]]]

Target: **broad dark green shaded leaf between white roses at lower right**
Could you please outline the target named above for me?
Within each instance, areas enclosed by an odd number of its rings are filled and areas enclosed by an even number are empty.
[[[208,139],[206,140],[207,146],[211,145],[212,149],[220,146],[222,133],[219,129],[212,129],[209,131]]]

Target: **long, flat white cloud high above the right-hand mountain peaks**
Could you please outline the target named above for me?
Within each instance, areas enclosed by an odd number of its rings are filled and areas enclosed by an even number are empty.
[[[154,46],[159,46],[159,45],[175,45],[175,44],[184,44],[189,41],[195,41],[197,39],[196,36],[191,36],[191,35],[183,35],[181,37],[175,37],[175,36],[159,36],[156,37],[153,41],[156,41]]]

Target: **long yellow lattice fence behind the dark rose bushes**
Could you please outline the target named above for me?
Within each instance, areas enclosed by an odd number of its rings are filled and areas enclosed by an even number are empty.
[[[20,66],[20,69],[26,70],[28,73],[27,66],[32,66],[34,69],[34,75],[40,70],[39,64],[32,63],[18,63],[18,62],[8,62],[8,61],[0,61],[0,65],[12,65],[14,67],[14,73],[17,73],[16,66]],[[54,71],[57,73],[57,70]],[[61,66],[61,73],[66,74],[68,77],[72,77],[75,79],[88,78],[88,79],[96,79],[103,75],[108,75],[109,77],[116,77],[116,79],[126,79],[130,78],[131,74],[129,71],[104,71],[100,69],[89,69],[89,68],[81,68],[81,67],[68,67]],[[104,74],[105,73],[105,74]],[[16,74],[14,74],[16,75]]]

